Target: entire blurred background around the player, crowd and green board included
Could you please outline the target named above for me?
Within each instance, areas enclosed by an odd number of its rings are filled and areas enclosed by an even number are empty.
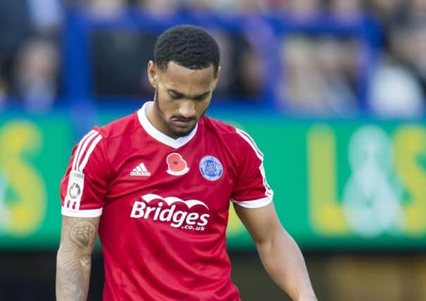
[[[208,115],[265,154],[319,300],[426,300],[426,0],[0,0],[0,300],[54,300],[59,181],[92,125],[153,97],[156,37],[211,32]],[[286,300],[232,209],[242,300]],[[101,300],[93,257],[89,300]]]

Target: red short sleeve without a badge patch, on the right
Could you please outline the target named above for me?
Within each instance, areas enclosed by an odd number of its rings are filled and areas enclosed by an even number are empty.
[[[256,143],[237,129],[239,147],[239,176],[231,201],[246,208],[264,207],[272,202],[273,192],[266,181],[263,154]]]

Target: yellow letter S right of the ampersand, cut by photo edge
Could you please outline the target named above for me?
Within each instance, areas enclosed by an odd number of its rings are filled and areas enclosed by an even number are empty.
[[[426,170],[420,156],[426,157],[426,130],[418,125],[404,125],[394,136],[395,169],[409,199],[403,200],[406,235],[420,236],[426,232]]]

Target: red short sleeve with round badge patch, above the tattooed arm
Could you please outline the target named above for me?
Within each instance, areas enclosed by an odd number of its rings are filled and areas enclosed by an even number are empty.
[[[102,214],[108,190],[103,138],[94,128],[75,145],[61,180],[61,213],[64,216],[96,217]]]

